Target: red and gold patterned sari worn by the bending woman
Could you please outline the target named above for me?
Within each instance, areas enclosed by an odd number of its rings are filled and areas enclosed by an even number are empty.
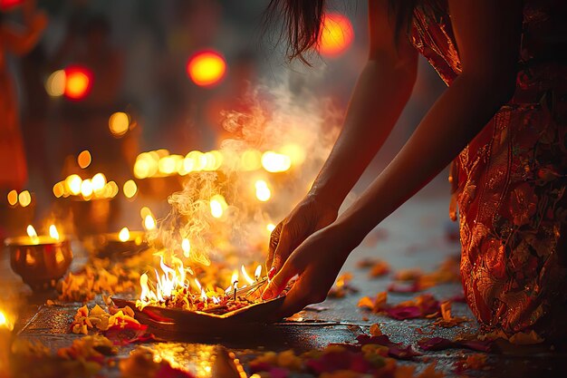
[[[449,179],[466,301],[485,331],[567,330],[564,3],[524,1],[514,98],[460,153]],[[446,2],[418,6],[410,38],[447,85],[461,73]]]

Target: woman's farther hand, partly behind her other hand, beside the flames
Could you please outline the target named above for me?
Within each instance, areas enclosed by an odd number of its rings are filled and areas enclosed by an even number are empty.
[[[283,267],[287,257],[303,240],[315,231],[329,226],[337,215],[337,208],[318,200],[315,195],[310,194],[302,199],[272,231],[266,259],[268,277],[271,279]]]

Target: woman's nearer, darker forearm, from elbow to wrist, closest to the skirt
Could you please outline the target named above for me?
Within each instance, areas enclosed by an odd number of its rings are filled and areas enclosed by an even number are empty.
[[[360,240],[456,158],[511,96],[514,82],[465,73],[439,98],[389,166],[337,220]]]

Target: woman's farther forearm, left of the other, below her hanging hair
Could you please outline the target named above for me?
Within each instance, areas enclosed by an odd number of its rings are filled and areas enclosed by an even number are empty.
[[[388,138],[413,88],[417,57],[408,63],[370,60],[352,93],[341,134],[310,194],[338,209]]]

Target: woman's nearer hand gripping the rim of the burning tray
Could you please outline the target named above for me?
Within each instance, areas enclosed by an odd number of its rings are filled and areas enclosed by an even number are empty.
[[[344,261],[356,246],[350,234],[336,224],[306,238],[285,260],[262,295],[263,299],[279,296],[289,281],[298,276],[274,319],[293,315],[306,305],[324,301]]]

